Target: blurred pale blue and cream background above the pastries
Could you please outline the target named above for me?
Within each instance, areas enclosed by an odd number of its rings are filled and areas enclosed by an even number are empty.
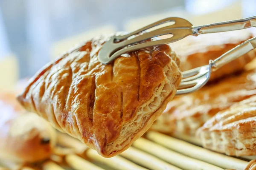
[[[0,90],[73,45],[165,17],[194,25],[256,15],[256,0],[0,0]]]

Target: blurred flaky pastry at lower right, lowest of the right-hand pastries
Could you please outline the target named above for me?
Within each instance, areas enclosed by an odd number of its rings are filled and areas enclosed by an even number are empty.
[[[256,95],[220,111],[197,130],[203,147],[230,156],[256,154]]]

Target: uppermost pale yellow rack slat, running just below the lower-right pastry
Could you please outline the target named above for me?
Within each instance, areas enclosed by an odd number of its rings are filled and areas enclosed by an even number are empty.
[[[164,147],[186,156],[217,165],[218,167],[244,170],[248,164],[247,161],[216,153],[161,133],[148,132],[146,137]]]

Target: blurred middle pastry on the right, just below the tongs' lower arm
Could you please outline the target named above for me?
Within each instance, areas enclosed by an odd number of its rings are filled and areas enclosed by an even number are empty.
[[[151,128],[193,136],[218,111],[252,95],[256,95],[256,70],[232,75],[192,94],[175,97]]]

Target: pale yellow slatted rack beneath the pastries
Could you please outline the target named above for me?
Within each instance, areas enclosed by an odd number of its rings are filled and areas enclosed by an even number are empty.
[[[180,138],[180,139],[178,139]],[[256,170],[253,156],[237,158],[207,150],[189,136],[149,131],[118,156],[104,158],[66,134],[58,133],[50,160],[26,165],[2,162],[0,170]]]

